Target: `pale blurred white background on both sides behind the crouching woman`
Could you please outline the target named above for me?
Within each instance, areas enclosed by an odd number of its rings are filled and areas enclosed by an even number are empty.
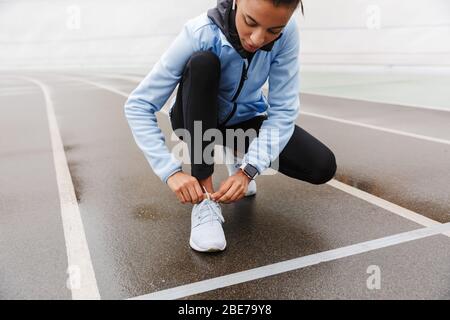
[[[0,0],[0,72],[146,74],[215,0]],[[450,109],[450,1],[303,0],[302,92]]]

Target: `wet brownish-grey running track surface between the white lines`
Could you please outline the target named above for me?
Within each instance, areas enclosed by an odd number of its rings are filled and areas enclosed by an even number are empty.
[[[46,100],[15,76],[0,77],[0,298],[67,299],[70,244]],[[191,205],[178,203],[152,173],[123,114],[139,77],[26,76],[49,89],[101,298],[132,298],[424,227],[330,184],[276,174],[257,178],[255,197],[222,205],[226,251],[194,252]],[[334,151],[336,180],[450,221],[450,112],[314,95],[301,102],[297,124]],[[168,138],[168,119],[161,113],[159,120]],[[226,170],[216,167],[218,186]],[[449,299],[449,241],[434,235],[184,298]],[[378,290],[366,286],[371,265],[381,270]]]

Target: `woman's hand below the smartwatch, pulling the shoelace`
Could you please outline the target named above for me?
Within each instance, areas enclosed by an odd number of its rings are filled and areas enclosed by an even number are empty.
[[[212,194],[212,199],[217,202],[231,203],[242,199],[247,192],[251,179],[242,170],[220,184],[220,189]]]

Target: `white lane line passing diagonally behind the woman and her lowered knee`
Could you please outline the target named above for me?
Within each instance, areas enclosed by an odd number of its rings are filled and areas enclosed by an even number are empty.
[[[83,79],[78,79],[78,78],[73,78],[73,79],[77,80],[77,81],[85,82],[87,84],[96,86],[96,87],[104,89],[104,90],[109,90],[109,91],[111,91],[113,93],[122,95],[124,97],[128,97],[128,95],[129,95],[127,93],[118,91],[115,88],[112,88],[110,86],[98,84],[96,82],[92,82],[92,81],[89,81],[89,80],[83,80]],[[332,186],[332,187],[334,187],[334,188],[336,188],[336,189],[344,191],[344,192],[346,192],[346,193],[348,193],[348,194],[350,194],[352,196],[355,196],[355,197],[357,197],[359,199],[362,199],[362,200],[367,201],[367,202],[369,202],[371,204],[374,204],[374,205],[376,205],[376,206],[378,206],[380,208],[388,210],[389,212],[395,213],[395,214],[397,214],[397,215],[399,215],[399,216],[401,216],[403,218],[406,218],[406,219],[411,220],[411,221],[413,221],[415,223],[423,225],[425,227],[429,227],[429,226],[433,226],[433,225],[436,225],[436,224],[440,224],[440,222],[438,222],[438,221],[432,220],[432,219],[427,218],[427,217],[425,217],[425,216],[423,216],[423,215],[421,215],[419,213],[416,213],[414,211],[411,211],[411,210],[408,210],[406,208],[400,207],[400,206],[398,206],[398,205],[396,205],[396,204],[394,204],[392,202],[389,202],[387,200],[381,199],[381,198],[379,198],[377,196],[374,196],[374,195],[372,195],[370,193],[367,193],[367,192],[364,192],[364,191],[359,190],[357,188],[354,188],[352,186],[346,185],[346,184],[344,184],[342,182],[337,181],[336,179],[330,180],[329,182],[327,182],[327,184]],[[445,234],[445,235],[446,236],[450,236],[450,233]]]

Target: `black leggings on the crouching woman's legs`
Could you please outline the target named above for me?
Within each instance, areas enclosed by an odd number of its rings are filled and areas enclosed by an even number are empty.
[[[210,51],[195,52],[187,62],[182,79],[178,86],[175,105],[171,110],[172,129],[187,129],[194,137],[194,121],[202,122],[202,134],[211,128],[247,130],[256,132],[264,121],[264,117],[255,117],[232,126],[218,124],[217,95],[220,80],[220,60]],[[180,139],[183,137],[180,136]],[[224,135],[225,137],[225,135]],[[188,145],[190,157],[193,158],[194,139]],[[210,143],[202,142],[202,150]],[[245,152],[250,141],[245,143]],[[226,139],[224,138],[224,145]],[[322,184],[333,178],[336,172],[336,159],[333,152],[308,132],[295,126],[294,133],[281,151],[278,171],[295,179],[313,184]],[[213,174],[214,164],[195,164],[191,161],[191,175],[199,180]]]

